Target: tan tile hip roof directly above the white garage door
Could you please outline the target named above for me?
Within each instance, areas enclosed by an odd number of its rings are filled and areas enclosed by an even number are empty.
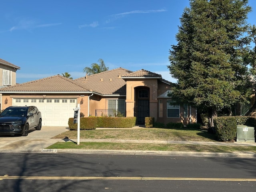
[[[86,88],[61,75],[51,76],[0,89],[0,92],[86,92]]]

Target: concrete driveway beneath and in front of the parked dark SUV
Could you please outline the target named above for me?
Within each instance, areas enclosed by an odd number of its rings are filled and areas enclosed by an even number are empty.
[[[51,139],[68,127],[42,126],[41,130],[30,130],[28,136],[0,136],[0,152],[42,152],[60,139]]]

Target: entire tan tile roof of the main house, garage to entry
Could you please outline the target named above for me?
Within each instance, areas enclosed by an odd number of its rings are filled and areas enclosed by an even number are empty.
[[[126,95],[126,78],[161,78],[147,70],[132,72],[116,68],[75,80],[61,75],[51,76],[0,89],[4,92],[94,92],[101,95]],[[162,79],[163,81],[163,79]],[[166,81],[165,83],[168,83]]]

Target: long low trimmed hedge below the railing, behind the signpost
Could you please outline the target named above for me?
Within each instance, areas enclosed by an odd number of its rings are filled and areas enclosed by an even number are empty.
[[[77,130],[77,124],[73,124],[74,118],[69,118],[70,130]],[[83,117],[80,118],[80,130],[94,130],[97,127],[106,128],[131,128],[136,124],[136,117]]]

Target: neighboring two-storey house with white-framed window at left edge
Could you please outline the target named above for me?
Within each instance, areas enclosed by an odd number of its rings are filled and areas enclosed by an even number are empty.
[[[0,87],[16,84],[16,70],[20,67],[0,59]]]

